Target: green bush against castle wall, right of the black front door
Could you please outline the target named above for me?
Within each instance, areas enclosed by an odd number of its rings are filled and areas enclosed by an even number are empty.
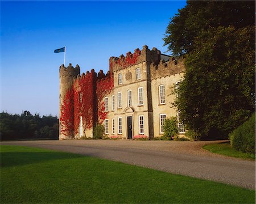
[[[171,140],[172,137],[175,137],[179,133],[179,128],[177,128],[177,118],[171,117],[166,118],[164,121],[164,134],[161,137],[162,140]]]

